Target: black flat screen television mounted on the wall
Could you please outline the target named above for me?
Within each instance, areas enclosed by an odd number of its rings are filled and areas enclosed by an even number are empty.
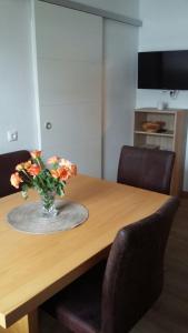
[[[138,88],[188,90],[188,50],[139,52]]]

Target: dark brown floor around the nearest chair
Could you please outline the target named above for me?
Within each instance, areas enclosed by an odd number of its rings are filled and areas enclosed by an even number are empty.
[[[41,316],[40,333],[60,332],[55,321]],[[181,200],[170,233],[162,294],[131,330],[131,333],[168,332],[188,333],[188,199]]]

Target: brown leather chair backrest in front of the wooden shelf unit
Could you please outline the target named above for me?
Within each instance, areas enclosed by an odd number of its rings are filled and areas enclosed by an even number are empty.
[[[118,182],[169,194],[175,152],[123,145]]]

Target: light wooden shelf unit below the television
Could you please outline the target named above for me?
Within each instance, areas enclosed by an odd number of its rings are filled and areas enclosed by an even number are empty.
[[[164,121],[165,132],[148,132],[142,130],[146,121]],[[184,168],[187,141],[188,110],[158,110],[144,108],[135,110],[133,145],[159,148],[176,152],[171,180],[171,195],[180,195],[182,191]]]

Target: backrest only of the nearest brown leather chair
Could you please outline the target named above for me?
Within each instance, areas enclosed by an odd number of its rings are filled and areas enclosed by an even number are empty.
[[[178,199],[123,228],[112,244],[102,287],[102,333],[126,333],[160,295],[164,254]]]

